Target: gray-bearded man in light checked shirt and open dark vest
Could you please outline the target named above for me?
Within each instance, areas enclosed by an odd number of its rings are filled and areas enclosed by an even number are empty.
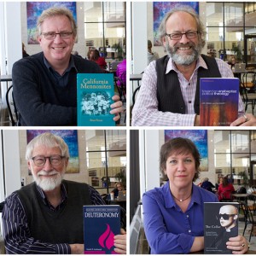
[[[131,125],[200,125],[200,78],[233,78],[227,63],[201,55],[205,28],[194,9],[180,5],[166,14],[159,27],[167,55],[152,61],[132,110]],[[231,125],[256,125],[245,115],[239,96],[238,116]]]

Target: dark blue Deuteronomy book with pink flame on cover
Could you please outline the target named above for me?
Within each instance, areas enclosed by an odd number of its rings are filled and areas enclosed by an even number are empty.
[[[84,254],[115,254],[113,236],[119,234],[119,206],[84,206]]]

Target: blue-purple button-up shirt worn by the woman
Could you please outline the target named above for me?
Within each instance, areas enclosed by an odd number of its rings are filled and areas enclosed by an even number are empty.
[[[172,199],[169,182],[144,193],[144,229],[151,253],[189,253],[195,236],[204,236],[204,202],[213,201],[218,201],[216,195],[195,184],[186,212]]]

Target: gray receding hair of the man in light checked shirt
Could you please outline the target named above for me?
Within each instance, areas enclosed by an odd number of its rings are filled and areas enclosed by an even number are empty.
[[[171,17],[176,12],[185,12],[188,13],[189,15],[193,16],[196,25],[197,25],[197,32],[201,34],[201,44],[202,47],[205,46],[206,41],[205,41],[205,35],[206,35],[206,29],[201,20],[199,19],[199,16],[196,14],[195,9],[191,8],[188,5],[176,5],[175,8],[173,8],[170,12],[166,14],[164,19],[161,21],[160,26],[158,28],[158,38],[159,41],[162,43],[163,38],[166,37],[166,21]]]

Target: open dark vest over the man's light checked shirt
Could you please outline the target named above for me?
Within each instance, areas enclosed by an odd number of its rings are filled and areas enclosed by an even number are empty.
[[[208,69],[203,67],[198,68],[194,104],[195,113],[197,114],[200,113],[200,79],[221,78],[215,59],[207,55],[201,56],[204,61],[206,61]],[[166,74],[168,61],[168,55],[156,60],[158,110],[162,112],[185,113],[185,102],[183,100],[177,73],[171,70]]]

